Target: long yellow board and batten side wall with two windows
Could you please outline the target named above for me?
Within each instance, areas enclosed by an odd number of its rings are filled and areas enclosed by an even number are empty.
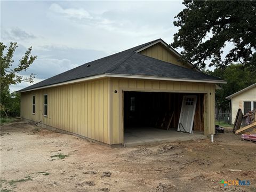
[[[44,116],[47,94],[47,117]],[[35,114],[32,114],[35,95]],[[109,143],[109,78],[21,93],[21,118]]]

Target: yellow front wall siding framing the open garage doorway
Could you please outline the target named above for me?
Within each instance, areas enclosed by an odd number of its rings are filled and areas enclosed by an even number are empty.
[[[215,85],[174,81],[150,81],[130,78],[110,78],[110,143],[123,140],[123,91],[180,92],[205,94],[204,134],[215,134]],[[117,91],[117,93],[115,93]]]

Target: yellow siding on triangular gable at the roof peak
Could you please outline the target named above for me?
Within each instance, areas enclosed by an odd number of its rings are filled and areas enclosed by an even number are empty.
[[[182,66],[189,69],[191,68],[191,66],[189,66],[187,63],[180,62],[179,57],[177,55],[175,55],[174,53],[172,53],[170,50],[168,50],[166,47],[164,47],[159,43],[153,46],[150,46],[145,50],[142,50],[140,53],[148,57],[170,62],[178,66]]]

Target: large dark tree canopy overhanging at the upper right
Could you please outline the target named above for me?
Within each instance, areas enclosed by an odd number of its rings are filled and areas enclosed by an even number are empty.
[[[184,1],[175,18],[172,47],[198,68],[226,68],[230,63],[256,68],[256,1]],[[228,46],[225,48],[225,46]],[[229,53],[223,57],[223,49]]]

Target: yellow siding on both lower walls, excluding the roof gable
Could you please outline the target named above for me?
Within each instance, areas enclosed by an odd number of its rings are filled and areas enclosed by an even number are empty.
[[[117,91],[117,93],[115,93]],[[215,85],[105,78],[21,93],[21,117],[108,144],[123,143],[123,91],[204,93],[207,95],[205,134],[214,133]],[[44,117],[44,94],[48,116]],[[36,113],[32,114],[32,97]]]

